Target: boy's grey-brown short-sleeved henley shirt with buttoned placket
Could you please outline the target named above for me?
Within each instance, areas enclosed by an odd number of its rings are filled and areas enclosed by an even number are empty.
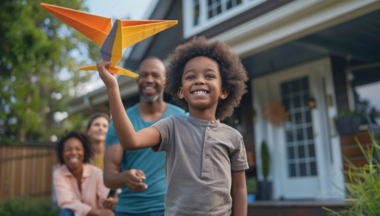
[[[242,135],[216,121],[170,116],[153,125],[166,152],[165,215],[231,215],[231,171],[248,169]]]

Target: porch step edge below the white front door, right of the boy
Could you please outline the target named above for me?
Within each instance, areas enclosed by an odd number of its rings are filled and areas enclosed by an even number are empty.
[[[322,206],[340,210],[348,206],[344,200],[257,200],[248,204],[248,216],[324,216]]]

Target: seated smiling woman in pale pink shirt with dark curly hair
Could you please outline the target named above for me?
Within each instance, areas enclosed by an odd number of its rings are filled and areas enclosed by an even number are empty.
[[[114,197],[103,184],[103,172],[88,164],[89,141],[81,132],[70,132],[57,143],[58,162],[53,173],[59,215],[114,215]]]

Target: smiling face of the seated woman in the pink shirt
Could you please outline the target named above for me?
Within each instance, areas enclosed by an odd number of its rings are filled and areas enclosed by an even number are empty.
[[[82,167],[85,157],[83,143],[77,137],[68,138],[63,144],[63,161],[69,170]]]

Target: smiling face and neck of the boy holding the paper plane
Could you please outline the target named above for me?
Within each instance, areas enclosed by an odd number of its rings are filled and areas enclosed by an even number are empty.
[[[196,57],[189,60],[182,74],[182,86],[178,88],[178,97],[188,103],[189,113],[209,115],[215,120],[215,111],[219,99],[225,99],[229,92],[222,87],[218,64],[208,57]],[[198,116],[200,118],[200,116]],[[201,118],[204,119],[204,118]]]

